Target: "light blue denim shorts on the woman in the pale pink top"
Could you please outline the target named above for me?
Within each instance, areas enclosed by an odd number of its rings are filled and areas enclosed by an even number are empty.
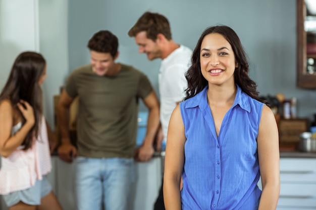
[[[36,180],[35,185],[20,191],[11,192],[7,195],[2,195],[7,206],[13,206],[19,201],[28,205],[39,205],[40,199],[45,197],[51,191],[51,186],[46,177],[42,180]]]

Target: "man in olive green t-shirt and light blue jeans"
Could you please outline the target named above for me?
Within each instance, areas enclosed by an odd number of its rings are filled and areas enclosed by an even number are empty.
[[[159,127],[159,102],[147,77],[122,63],[118,39],[110,31],[95,33],[88,42],[91,63],[76,68],[68,77],[58,105],[62,144],[59,156],[76,162],[78,210],[128,209],[134,181],[138,100],[149,109],[144,143],[137,159],[147,161]],[[77,148],[70,143],[68,113],[79,97]]]

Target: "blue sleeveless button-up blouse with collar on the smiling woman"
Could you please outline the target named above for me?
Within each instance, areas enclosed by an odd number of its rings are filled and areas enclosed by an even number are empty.
[[[261,195],[256,138],[264,104],[237,86],[217,137],[207,89],[180,103],[186,136],[182,209],[255,210]]]

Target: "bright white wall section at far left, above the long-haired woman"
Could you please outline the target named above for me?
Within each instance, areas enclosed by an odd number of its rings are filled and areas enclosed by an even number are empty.
[[[0,89],[17,55],[38,51],[37,0],[0,0]]]

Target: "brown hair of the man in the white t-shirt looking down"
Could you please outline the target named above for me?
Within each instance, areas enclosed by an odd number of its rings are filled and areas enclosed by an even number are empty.
[[[163,34],[171,40],[171,29],[168,19],[159,13],[145,12],[128,31],[130,37],[135,37],[139,32],[145,31],[147,38],[155,41],[158,34]]]

